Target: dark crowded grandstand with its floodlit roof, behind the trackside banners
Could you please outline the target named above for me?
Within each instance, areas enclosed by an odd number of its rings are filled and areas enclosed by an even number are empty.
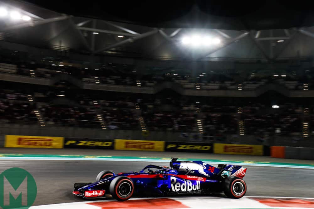
[[[2,133],[312,141],[309,25],[156,28],[21,5],[0,29]]]

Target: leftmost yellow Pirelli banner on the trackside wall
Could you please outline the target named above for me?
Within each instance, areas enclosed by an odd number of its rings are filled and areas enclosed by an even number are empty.
[[[6,135],[4,147],[63,148],[63,137]]]

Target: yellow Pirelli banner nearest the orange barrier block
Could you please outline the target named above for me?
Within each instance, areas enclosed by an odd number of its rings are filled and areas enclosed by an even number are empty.
[[[263,155],[262,145],[214,144],[215,154]]]

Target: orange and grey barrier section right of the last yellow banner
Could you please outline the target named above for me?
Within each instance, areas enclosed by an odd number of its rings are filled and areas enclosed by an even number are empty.
[[[314,160],[314,148],[272,146],[273,158]]]

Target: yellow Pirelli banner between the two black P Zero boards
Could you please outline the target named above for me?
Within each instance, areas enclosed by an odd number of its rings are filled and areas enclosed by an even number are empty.
[[[165,151],[165,142],[115,139],[117,150]]]

